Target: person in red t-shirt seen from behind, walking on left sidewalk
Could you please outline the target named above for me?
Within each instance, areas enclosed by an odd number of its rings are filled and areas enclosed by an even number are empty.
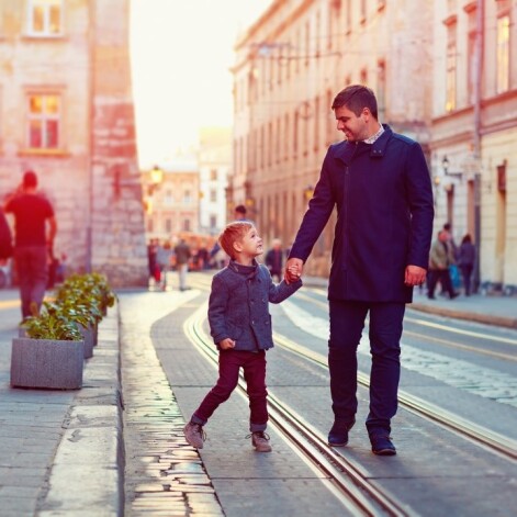
[[[22,183],[8,196],[4,211],[14,214],[14,261],[25,319],[40,314],[57,223],[54,207],[37,190],[37,176],[32,170],[23,175]]]

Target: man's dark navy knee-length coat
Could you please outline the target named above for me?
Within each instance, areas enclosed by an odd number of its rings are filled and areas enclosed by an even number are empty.
[[[373,144],[329,147],[290,252],[305,261],[336,206],[330,300],[411,302],[405,268],[428,267],[434,205],[424,153],[384,130]]]

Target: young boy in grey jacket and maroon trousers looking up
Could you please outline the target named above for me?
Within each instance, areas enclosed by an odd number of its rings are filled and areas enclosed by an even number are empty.
[[[255,258],[263,252],[262,239],[252,223],[236,221],[226,226],[220,243],[231,260],[212,280],[209,301],[211,335],[220,351],[220,376],[184,426],[187,441],[203,448],[203,426],[220,404],[227,401],[238,382],[239,369],[249,397],[251,443],[259,452],[271,451],[266,397],[266,350],[272,348],[268,301],[280,303],[302,286],[299,279],[289,285],[271,280],[266,266]],[[293,274],[295,272],[293,271]]]

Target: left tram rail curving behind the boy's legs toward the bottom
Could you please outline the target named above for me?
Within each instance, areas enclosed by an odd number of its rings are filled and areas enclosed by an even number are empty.
[[[206,307],[199,307],[184,323],[183,331],[194,346],[212,362],[217,363],[217,351],[206,335],[203,323]],[[246,394],[243,379],[239,390]],[[355,515],[409,516],[409,508],[387,491],[379,488],[352,461],[329,447],[326,437],[273,393],[268,396],[270,420],[314,468],[327,476],[334,495]]]

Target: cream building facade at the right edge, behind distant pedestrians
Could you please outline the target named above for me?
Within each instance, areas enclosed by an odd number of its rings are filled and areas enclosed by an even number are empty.
[[[517,292],[517,1],[437,0],[436,226],[477,247],[483,290]]]

